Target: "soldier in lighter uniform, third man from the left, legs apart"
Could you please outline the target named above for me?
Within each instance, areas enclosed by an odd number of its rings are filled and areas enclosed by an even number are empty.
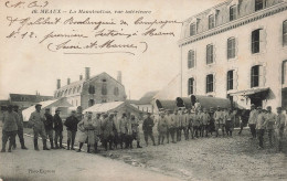
[[[39,151],[39,147],[38,147],[39,135],[42,137],[43,150],[50,150],[46,147],[46,132],[45,132],[45,126],[44,126],[45,116],[41,113],[41,106],[42,105],[36,104],[35,105],[36,110],[33,111],[29,118],[29,123],[32,125],[33,131],[34,131],[34,149],[36,151]]]

